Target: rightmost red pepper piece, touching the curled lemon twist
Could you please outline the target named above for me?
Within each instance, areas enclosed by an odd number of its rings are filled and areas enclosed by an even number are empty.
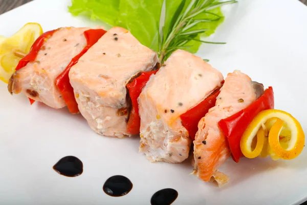
[[[247,108],[218,122],[218,126],[228,139],[232,159],[235,162],[239,162],[240,156],[243,156],[240,149],[240,140],[247,126],[259,112],[268,109],[274,109],[272,87],[266,89],[264,94]]]

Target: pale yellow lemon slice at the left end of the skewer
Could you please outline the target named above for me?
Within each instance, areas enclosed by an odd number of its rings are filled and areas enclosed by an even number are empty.
[[[29,53],[32,44],[42,34],[37,23],[28,23],[11,37],[0,36],[0,80],[8,83],[21,58]]]

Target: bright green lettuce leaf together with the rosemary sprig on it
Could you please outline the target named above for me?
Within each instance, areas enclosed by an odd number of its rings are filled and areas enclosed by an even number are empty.
[[[72,0],[69,11],[128,29],[143,45],[158,52],[161,63],[183,49],[191,53],[207,42],[224,20],[221,6],[235,0]]]

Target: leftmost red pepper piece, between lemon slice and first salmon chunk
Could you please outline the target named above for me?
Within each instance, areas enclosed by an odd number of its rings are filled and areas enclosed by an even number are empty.
[[[33,43],[30,52],[23,58],[21,58],[19,60],[18,65],[16,66],[15,70],[19,70],[21,68],[24,68],[25,66],[27,66],[27,64],[30,61],[34,61],[36,59],[37,53],[39,52],[39,50],[41,49],[43,43],[50,37],[53,35],[53,33],[57,31],[57,30],[52,30],[52,31],[47,31],[43,34],[41,34]],[[29,98],[31,105],[35,102],[34,99]]]

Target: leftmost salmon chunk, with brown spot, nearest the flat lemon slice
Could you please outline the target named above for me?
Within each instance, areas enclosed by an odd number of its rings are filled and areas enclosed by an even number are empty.
[[[86,46],[83,32],[88,29],[63,27],[56,30],[43,43],[35,61],[29,62],[12,75],[9,91],[15,94],[23,92],[29,98],[52,108],[65,107],[55,79]]]

